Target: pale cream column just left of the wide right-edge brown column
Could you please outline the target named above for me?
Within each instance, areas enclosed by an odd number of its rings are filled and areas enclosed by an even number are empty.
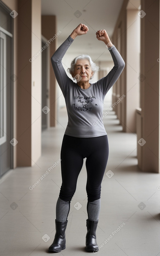
[[[132,7],[132,9],[131,9]],[[136,133],[136,108],[139,107],[140,17],[139,10],[127,7],[126,132]]]

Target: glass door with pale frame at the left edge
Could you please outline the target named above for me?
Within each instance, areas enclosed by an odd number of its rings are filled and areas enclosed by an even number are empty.
[[[0,31],[0,177],[12,168],[12,38]]]

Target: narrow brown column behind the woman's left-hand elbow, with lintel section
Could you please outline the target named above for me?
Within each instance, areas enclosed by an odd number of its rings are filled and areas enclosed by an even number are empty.
[[[50,43],[50,60],[53,53],[56,50],[56,16],[54,15],[42,15],[41,16],[41,33],[42,35],[47,38]],[[57,111],[56,111],[56,79],[54,75],[54,71],[52,68],[52,63],[50,61],[50,126],[56,126],[57,120]]]

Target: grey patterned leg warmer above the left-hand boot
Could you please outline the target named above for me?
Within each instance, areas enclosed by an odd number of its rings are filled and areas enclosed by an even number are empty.
[[[70,210],[70,202],[63,201],[60,197],[56,203],[56,220],[66,221]]]

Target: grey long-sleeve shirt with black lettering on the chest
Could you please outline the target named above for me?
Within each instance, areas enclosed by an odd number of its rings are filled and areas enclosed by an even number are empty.
[[[73,41],[69,36],[51,58],[55,77],[67,107],[68,124],[64,134],[74,137],[103,136],[107,134],[102,121],[104,98],[122,73],[125,62],[114,45],[109,47],[114,67],[107,76],[91,83],[89,88],[82,89],[67,76],[62,66],[62,58]]]

